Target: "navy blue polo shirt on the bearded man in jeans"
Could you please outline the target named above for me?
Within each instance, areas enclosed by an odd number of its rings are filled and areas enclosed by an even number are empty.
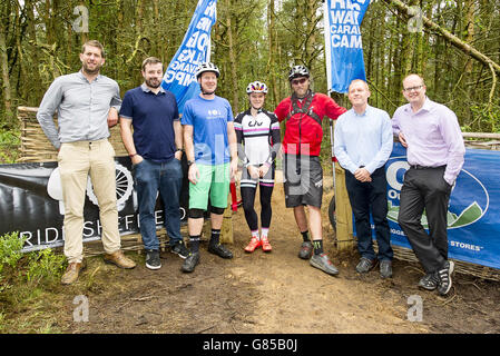
[[[174,157],[174,121],[179,120],[179,111],[170,91],[160,87],[155,95],[144,83],[130,89],[124,96],[120,116],[133,120],[137,154],[156,162]]]

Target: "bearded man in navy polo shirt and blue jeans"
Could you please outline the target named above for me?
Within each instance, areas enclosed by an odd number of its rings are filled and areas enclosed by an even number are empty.
[[[182,258],[189,254],[180,236],[183,131],[175,96],[160,86],[161,61],[155,57],[145,59],[141,73],[144,83],[125,93],[120,129],[134,165],[146,267],[159,269],[161,263],[155,219],[158,190],[165,205],[165,227],[171,251]]]

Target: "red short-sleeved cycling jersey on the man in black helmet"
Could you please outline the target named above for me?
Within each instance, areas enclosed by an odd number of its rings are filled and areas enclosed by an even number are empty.
[[[302,108],[304,101],[298,101],[297,106]],[[310,110],[313,110],[321,120],[325,116],[336,120],[342,113],[347,111],[339,106],[335,100],[321,92],[314,93]],[[288,97],[278,103],[274,113],[276,113],[281,122],[292,111],[292,97]],[[307,113],[297,112],[286,120],[285,137],[283,138],[283,151],[285,154],[320,156],[322,140],[323,128]]]

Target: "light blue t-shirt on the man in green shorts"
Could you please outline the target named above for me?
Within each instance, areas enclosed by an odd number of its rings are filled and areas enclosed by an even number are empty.
[[[186,101],[180,123],[193,126],[196,164],[229,162],[227,122],[231,121],[234,121],[233,110],[224,98],[215,96],[207,100],[198,96]]]

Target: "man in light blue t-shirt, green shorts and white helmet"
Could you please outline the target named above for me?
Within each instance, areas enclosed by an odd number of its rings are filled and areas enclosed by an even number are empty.
[[[190,273],[199,263],[199,238],[204,212],[210,198],[212,236],[208,251],[222,258],[233,254],[220,245],[220,227],[224,209],[227,207],[231,178],[238,168],[236,132],[229,102],[215,95],[220,72],[210,63],[202,63],[196,71],[202,92],[186,101],[182,123],[189,166],[189,257],[183,264],[183,271]]]

